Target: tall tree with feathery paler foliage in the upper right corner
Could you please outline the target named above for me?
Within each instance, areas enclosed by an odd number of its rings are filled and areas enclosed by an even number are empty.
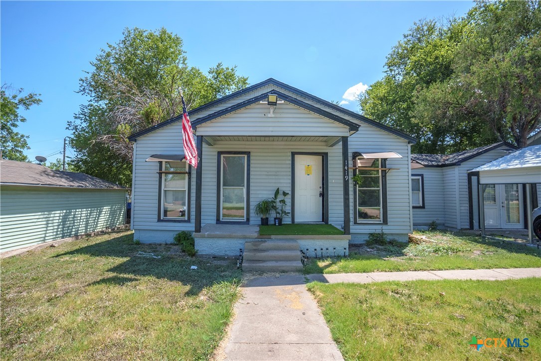
[[[541,4],[480,1],[466,21],[472,35],[456,52],[452,78],[427,97],[429,108],[479,119],[499,140],[526,147],[541,128]]]

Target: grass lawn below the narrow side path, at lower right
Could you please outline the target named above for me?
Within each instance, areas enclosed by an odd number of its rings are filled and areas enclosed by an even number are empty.
[[[541,359],[539,278],[311,283],[308,289],[346,360]],[[523,345],[528,338],[529,346],[476,351],[472,336],[520,338]]]

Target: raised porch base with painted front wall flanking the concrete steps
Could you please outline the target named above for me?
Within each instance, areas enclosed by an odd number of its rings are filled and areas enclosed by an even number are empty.
[[[327,254],[348,255],[348,242],[351,235],[261,235],[258,225],[207,224],[201,227],[201,232],[194,233],[194,238],[195,248],[202,255],[237,256],[240,250],[245,250],[247,241],[275,240],[297,242],[299,251],[304,251],[309,257],[321,257],[322,254],[324,256]]]

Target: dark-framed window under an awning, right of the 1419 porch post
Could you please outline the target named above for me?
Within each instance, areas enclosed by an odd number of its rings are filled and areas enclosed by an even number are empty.
[[[357,168],[354,175],[355,184],[355,221],[357,223],[382,223],[387,220],[386,213],[386,181],[384,159],[355,159]],[[370,168],[373,168],[371,170]]]

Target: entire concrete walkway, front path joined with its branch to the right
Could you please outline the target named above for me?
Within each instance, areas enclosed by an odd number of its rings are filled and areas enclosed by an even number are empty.
[[[441,279],[541,277],[541,268],[310,274],[309,281],[372,283]],[[227,360],[341,360],[325,319],[301,274],[249,280],[223,352]]]

